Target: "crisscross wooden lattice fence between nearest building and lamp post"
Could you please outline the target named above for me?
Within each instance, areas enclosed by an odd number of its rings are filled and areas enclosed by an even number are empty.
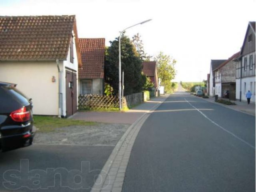
[[[119,100],[118,96],[106,96],[106,95],[79,95],[78,96],[78,109],[109,109],[118,108]]]

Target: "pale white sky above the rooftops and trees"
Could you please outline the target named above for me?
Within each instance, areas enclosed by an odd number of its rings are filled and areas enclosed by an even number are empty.
[[[141,35],[146,53],[177,60],[174,81],[206,80],[211,59],[240,51],[256,0],[0,0],[1,16],[76,15],[79,38]]]

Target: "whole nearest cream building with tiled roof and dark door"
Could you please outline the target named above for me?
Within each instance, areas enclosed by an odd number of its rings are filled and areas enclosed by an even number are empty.
[[[77,111],[78,66],[74,15],[0,17],[0,81],[32,98],[34,114]]]

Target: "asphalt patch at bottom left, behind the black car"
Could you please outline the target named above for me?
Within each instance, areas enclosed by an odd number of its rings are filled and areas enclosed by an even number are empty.
[[[34,144],[0,154],[0,192],[89,192],[114,146]]]

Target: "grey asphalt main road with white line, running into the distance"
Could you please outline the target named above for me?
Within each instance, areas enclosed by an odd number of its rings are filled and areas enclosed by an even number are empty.
[[[143,124],[122,192],[255,191],[255,116],[184,92]]]

